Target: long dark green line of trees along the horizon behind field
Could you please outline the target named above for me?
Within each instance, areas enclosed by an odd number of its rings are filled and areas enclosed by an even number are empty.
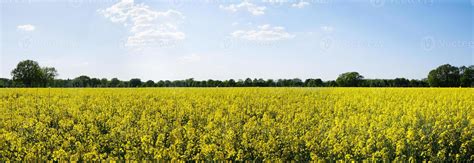
[[[25,60],[11,72],[12,79],[0,78],[0,87],[474,87],[474,66],[456,67],[444,64],[429,72],[425,79],[365,79],[358,72],[340,74],[336,80],[321,79],[229,79],[229,80],[160,80],[139,78],[91,78],[81,75],[74,79],[56,79],[54,67],[41,67]]]

